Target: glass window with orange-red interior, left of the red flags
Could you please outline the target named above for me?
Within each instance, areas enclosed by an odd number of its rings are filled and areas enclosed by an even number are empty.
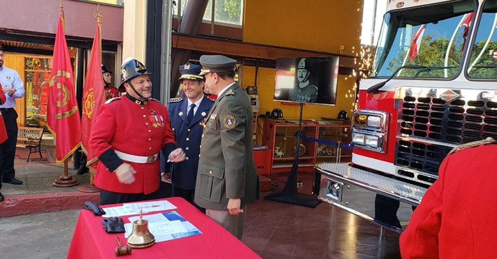
[[[52,58],[26,57],[25,61],[26,125],[46,127]]]

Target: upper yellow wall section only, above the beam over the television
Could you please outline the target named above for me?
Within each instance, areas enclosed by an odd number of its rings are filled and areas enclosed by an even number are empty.
[[[243,41],[344,54],[358,50],[364,0],[249,0]]]

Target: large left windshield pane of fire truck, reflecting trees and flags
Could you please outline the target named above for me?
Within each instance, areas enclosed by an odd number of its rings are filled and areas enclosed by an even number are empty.
[[[456,76],[469,39],[474,10],[473,0],[462,0],[387,12],[371,76],[391,76],[403,65],[441,69],[422,72],[401,69],[397,77]]]

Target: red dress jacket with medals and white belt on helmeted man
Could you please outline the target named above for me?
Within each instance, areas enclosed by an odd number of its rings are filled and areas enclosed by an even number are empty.
[[[94,183],[106,191],[150,194],[159,189],[159,158],[153,163],[122,160],[137,171],[135,182],[130,185],[119,183],[113,173],[122,163],[120,159],[117,159],[119,163],[115,163],[115,159],[113,163],[106,163],[102,158],[115,156],[115,150],[134,156],[153,156],[158,154],[166,143],[175,143],[164,105],[155,100],[139,104],[139,101],[131,100],[133,97],[126,96],[111,99],[101,105],[97,121],[92,128],[89,145],[93,154],[101,160]]]

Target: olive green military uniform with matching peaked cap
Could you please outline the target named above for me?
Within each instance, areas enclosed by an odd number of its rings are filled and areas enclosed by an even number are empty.
[[[226,56],[201,56],[200,63],[205,74],[233,71],[236,61]],[[195,185],[195,203],[206,208],[208,216],[239,239],[246,205],[259,196],[252,117],[249,96],[237,83],[217,97],[204,123]],[[231,198],[240,198],[244,213],[229,214],[227,206]]]

